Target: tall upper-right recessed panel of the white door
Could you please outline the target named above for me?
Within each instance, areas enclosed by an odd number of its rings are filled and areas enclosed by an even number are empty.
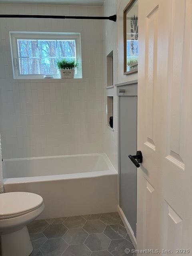
[[[185,27],[185,0],[174,0],[172,2],[171,31],[169,47],[169,68],[168,68],[168,105],[167,105],[167,156],[166,159],[175,164],[179,169],[184,170],[184,142],[186,137],[184,83],[182,76],[182,58],[184,48],[184,27]],[[179,17],[179,18],[178,18]],[[179,33],[179,31],[181,33]],[[177,43],[175,43],[177,42]]]

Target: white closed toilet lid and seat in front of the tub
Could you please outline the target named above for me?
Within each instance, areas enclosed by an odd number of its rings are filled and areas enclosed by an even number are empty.
[[[0,194],[0,219],[13,218],[32,212],[42,204],[43,198],[34,193],[2,193]]]

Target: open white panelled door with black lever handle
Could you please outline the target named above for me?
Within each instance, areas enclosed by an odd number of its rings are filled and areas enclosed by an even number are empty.
[[[192,255],[192,0],[139,0],[138,18],[137,249]]]

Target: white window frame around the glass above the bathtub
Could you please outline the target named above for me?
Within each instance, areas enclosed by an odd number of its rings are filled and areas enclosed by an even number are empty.
[[[82,78],[82,59],[81,59],[81,35],[80,33],[55,33],[55,32],[10,32],[10,46],[12,55],[12,67],[14,79],[41,79],[40,74],[25,74],[19,72],[18,47],[17,39],[54,39],[54,40],[76,40],[76,60],[79,62],[78,69],[74,78]],[[54,75],[54,78],[60,78]]]

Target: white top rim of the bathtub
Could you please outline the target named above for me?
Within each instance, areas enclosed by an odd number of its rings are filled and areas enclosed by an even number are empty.
[[[48,159],[48,158],[66,158],[66,157],[76,157],[76,156],[102,156],[109,167],[109,170],[95,171],[95,172],[78,172],[72,174],[57,174],[57,175],[44,175],[44,176],[34,176],[34,177],[20,177],[20,178],[3,178],[4,185],[8,184],[20,184],[20,183],[30,183],[30,182],[46,182],[46,181],[57,181],[57,180],[74,180],[81,178],[96,178],[101,176],[111,176],[118,175],[118,172],[112,165],[110,159],[106,153],[94,153],[94,154],[78,154],[78,155],[64,155],[64,156],[42,156],[42,157],[32,157],[32,158],[12,158],[4,159],[4,162],[8,161],[19,161],[19,160],[35,160],[35,159]]]

